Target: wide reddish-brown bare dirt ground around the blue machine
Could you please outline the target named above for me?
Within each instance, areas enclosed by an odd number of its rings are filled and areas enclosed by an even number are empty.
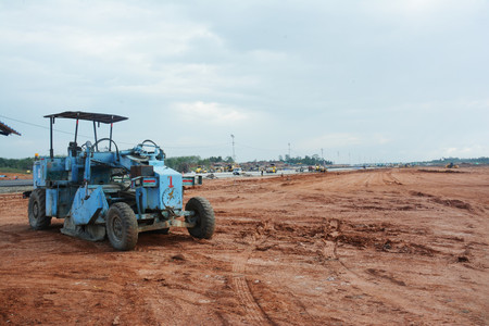
[[[0,195],[0,324],[487,325],[489,168],[205,180],[211,240],[131,252]]]

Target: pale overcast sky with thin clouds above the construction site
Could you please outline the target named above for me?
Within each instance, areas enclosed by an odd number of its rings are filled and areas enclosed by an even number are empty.
[[[42,116],[78,110],[168,156],[489,156],[489,1],[0,0],[0,156],[49,154]]]

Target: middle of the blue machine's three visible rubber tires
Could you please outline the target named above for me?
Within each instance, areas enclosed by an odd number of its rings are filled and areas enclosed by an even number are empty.
[[[138,221],[128,204],[111,205],[105,217],[106,236],[112,247],[120,251],[133,250],[138,242]]]

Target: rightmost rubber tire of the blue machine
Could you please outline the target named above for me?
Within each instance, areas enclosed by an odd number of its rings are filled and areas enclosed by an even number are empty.
[[[196,213],[193,216],[187,217],[187,222],[193,220],[197,223],[195,227],[187,228],[188,233],[199,239],[211,239],[215,229],[215,216],[209,200],[203,197],[190,198],[185,210]]]

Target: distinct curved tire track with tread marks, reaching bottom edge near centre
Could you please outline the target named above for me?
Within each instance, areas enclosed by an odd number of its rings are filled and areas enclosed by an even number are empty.
[[[246,318],[253,325],[269,325],[269,318],[251,293],[246,277],[246,265],[255,248],[255,243],[252,243],[237,256],[233,264],[233,285],[247,313]]]

